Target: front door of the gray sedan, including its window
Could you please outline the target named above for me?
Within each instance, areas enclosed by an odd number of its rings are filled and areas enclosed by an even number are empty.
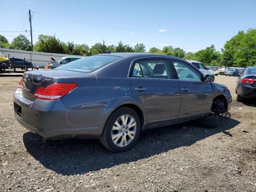
[[[208,113],[213,101],[210,82],[205,82],[202,74],[192,65],[172,59],[178,76],[181,92],[180,112],[178,117]]]

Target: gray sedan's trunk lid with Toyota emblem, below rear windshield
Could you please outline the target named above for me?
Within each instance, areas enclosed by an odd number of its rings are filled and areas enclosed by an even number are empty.
[[[24,72],[22,81],[22,94],[31,101],[36,100],[34,93],[40,87],[47,87],[52,84],[54,77],[65,75],[83,74],[82,72],[73,72],[66,70],[35,70],[30,72]]]

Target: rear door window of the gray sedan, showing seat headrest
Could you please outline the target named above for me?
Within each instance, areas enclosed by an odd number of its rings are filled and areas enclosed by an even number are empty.
[[[135,62],[132,77],[171,79],[168,61],[163,59],[140,60]]]

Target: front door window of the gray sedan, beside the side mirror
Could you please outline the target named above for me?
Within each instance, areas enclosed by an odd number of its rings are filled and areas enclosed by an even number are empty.
[[[172,62],[180,80],[197,82],[202,81],[202,75],[200,74],[200,72],[198,72],[189,64],[177,60],[172,60]]]

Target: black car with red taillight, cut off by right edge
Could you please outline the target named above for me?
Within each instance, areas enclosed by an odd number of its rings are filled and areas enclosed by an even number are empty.
[[[256,67],[245,68],[236,82],[236,100],[256,98]]]

